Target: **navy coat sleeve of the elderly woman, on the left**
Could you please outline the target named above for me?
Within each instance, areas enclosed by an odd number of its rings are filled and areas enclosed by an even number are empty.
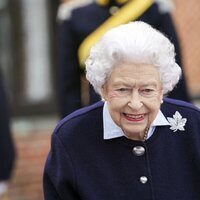
[[[44,168],[43,190],[45,200],[80,199],[76,192],[76,175],[71,158],[55,134]]]

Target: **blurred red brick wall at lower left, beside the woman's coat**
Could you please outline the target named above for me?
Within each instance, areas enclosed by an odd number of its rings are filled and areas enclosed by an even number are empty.
[[[9,189],[10,200],[43,200],[42,173],[50,148],[51,130],[15,136],[16,166]]]

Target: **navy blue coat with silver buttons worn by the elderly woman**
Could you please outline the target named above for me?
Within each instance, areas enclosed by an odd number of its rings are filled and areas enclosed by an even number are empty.
[[[200,199],[199,109],[165,99],[163,114],[172,117],[178,111],[187,118],[185,131],[159,126],[145,142],[104,140],[102,109],[98,102],[56,127],[44,170],[45,200]],[[145,153],[133,154],[136,146]]]

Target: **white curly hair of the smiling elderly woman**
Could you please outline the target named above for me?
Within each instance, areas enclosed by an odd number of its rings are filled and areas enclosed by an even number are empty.
[[[141,21],[120,25],[103,35],[85,62],[86,78],[101,95],[101,88],[113,68],[123,63],[157,67],[164,95],[173,90],[181,76],[174,45],[160,31]]]

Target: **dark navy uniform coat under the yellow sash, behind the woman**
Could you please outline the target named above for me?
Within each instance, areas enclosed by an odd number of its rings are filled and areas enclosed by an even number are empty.
[[[71,16],[58,23],[58,96],[62,117],[82,107],[80,70],[77,50],[82,41],[100,24],[110,17],[109,9],[116,5],[101,7],[95,2],[72,10]],[[175,27],[169,13],[160,13],[154,3],[139,19],[151,24],[165,33],[174,43],[177,62],[181,66],[181,55]],[[171,98],[190,101],[184,75],[178,87],[169,95]],[[99,100],[99,96],[90,88],[90,104]]]

